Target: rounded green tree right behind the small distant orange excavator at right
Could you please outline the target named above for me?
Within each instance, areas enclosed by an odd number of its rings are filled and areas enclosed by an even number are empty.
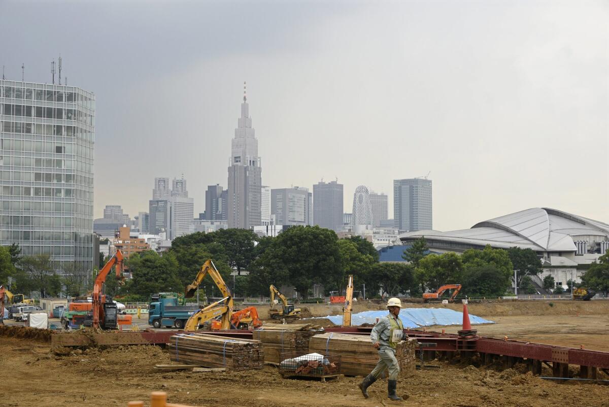
[[[417,281],[429,289],[445,284],[460,284],[463,275],[461,257],[454,252],[430,254],[418,261],[415,268]]]

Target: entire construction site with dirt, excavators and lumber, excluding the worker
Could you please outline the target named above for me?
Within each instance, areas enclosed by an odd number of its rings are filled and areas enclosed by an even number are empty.
[[[387,398],[385,375],[367,399],[358,388],[378,361],[370,333],[379,317],[356,321],[385,314],[387,300],[354,299],[353,277],[346,295],[330,303],[291,303],[270,286],[269,303],[253,306],[234,303],[207,261],[184,294],[158,293],[146,309],[119,315],[103,283],[121,266],[118,252],[100,271],[91,301],[70,303],[60,318],[31,311],[23,321],[4,320],[0,369],[10,380],[2,405],[609,403],[606,301],[403,299],[395,356],[404,401],[396,402]],[[224,297],[186,305],[206,276]],[[3,308],[11,296],[0,288]],[[451,322],[442,325],[447,316]],[[37,325],[40,317],[46,328]]]

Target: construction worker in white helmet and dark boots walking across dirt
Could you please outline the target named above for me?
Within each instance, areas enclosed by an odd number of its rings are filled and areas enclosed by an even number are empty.
[[[372,339],[373,346],[378,349],[381,359],[379,359],[372,372],[359,384],[365,398],[368,398],[368,386],[374,383],[382,372],[389,369],[389,381],[387,383],[389,398],[397,401],[403,400],[396,394],[400,366],[398,365],[398,359],[395,358],[395,346],[404,338],[404,325],[398,316],[401,308],[400,299],[390,298],[387,301],[389,315],[379,320],[378,324],[372,328],[370,339]]]

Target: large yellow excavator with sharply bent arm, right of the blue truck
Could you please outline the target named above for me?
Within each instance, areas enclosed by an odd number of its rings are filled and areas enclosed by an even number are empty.
[[[231,294],[230,289],[222,279],[222,276],[220,275],[220,272],[216,269],[216,266],[214,265],[213,261],[208,260],[203,264],[192,283],[186,286],[184,296],[186,298],[192,298],[195,292],[197,292],[197,289],[199,289],[203,278],[205,278],[205,276],[208,274],[211,279],[214,280],[214,283],[216,283],[216,286],[218,287],[218,289],[220,289],[220,292],[222,292],[222,296],[224,296],[224,298],[214,303],[211,303],[205,308],[202,308],[201,310],[192,314],[192,316],[186,321],[186,324],[184,325],[185,331],[196,331],[197,329],[199,329],[200,325],[205,324],[205,322],[208,322],[209,320],[214,320],[217,317],[220,317],[219,324],[214,324],[214,322],[216,321],[212,321],[213,328],[230,329],[230,320],[231,316],[233,316],[234,306],[233,294]]]

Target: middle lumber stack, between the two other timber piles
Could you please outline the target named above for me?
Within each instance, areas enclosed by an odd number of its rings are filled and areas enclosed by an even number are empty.
[[[253,339],[264,344],[264,361],[281,363],[281,353],[309,353],[309,341],[323,328],[313,324],[265,324],[253,331]]]

